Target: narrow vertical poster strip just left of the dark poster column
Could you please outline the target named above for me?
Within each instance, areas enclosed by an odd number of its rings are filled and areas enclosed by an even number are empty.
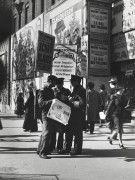
[[[81,39],[81,76],[88,78],[88,35]]]

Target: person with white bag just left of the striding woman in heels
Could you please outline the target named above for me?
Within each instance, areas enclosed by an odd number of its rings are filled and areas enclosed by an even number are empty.
[[[99,86],[100,90],[99,90],[99,95],[100,95],[100,110],[99,110],[99,122],[100,125],[99,127],[102,127],[102,117],[101,115],[104,114],[104,110],[105,110],[105,104],[106,104],[106,99],[107,99],[107,91],[105,90],[105,85],[101,84]],[[105,120],[105,119],[104,119]]]

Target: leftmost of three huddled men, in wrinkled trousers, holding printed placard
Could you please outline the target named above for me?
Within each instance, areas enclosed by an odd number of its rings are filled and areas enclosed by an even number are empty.
[[[55,123],[52,119],[47,117],[47,113],[52,104],[52,100],[54,99],[54,91],[52,88],[55,86],[56,80],[57,78],[55,76],[48,76],[48,84],[44,87],[43,90],[40,90],[38,94],[38,104],[42,109],[43,125],[37,154],[39,154],[39,156],[44,159],[49,158],[47,155],[50,154],[49,148],[51,136],[55,129]]]

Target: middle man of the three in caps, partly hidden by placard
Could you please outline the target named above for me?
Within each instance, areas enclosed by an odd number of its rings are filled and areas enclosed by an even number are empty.
[[[69,99],[68,96],[71,95],[71,92],[69,89],[66,89],[63,87],[64,78],[57,78],[56,86],[53,88],[54,90],[54,96],[56,99],[60,100],[61,102],[69,105]],[[63,149],[63,134],[65,132],[65,126],[61,123],[57,123],[56,127],[58,130],[61,130],[58,134],[58,141],[57,141],[57,150],[58,153],[61,153],[61,150]],[[52,135],[52,141],[51,141],[51,149],[53,150],[56,145],[56,132]]]

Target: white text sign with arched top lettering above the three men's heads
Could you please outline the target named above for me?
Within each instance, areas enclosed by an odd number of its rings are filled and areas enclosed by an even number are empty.
[[[76,72],[76,45],[55,45],[52,74],[69,80]]]

